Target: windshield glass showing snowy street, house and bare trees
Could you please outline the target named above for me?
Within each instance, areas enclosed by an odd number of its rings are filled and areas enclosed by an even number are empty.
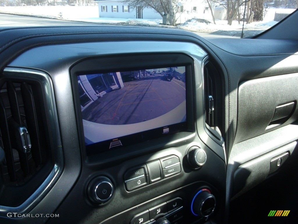
[[[250,37],[277,24],[297,0],[0,0],[0,26],[129,25],[203,37]],[[24,17],[26,16],[26,17]],[[30,17],[27,17],[30,16]]]

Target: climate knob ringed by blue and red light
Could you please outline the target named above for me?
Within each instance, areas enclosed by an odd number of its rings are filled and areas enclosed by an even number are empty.
[[[198,191],[193,197],[191,203],[191,211],[195,216],[209,217],[215,209],[215,197],[209,189],[204,188]]]

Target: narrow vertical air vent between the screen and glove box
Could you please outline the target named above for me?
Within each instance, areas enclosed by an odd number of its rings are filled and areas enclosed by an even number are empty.
[[[207,129],[219,140],[221,120],[221,78],[214,65],[207,61],[204,64],[204,95],[205,95],[205,122]]]

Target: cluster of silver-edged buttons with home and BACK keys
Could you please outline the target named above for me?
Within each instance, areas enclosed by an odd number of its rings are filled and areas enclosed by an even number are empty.
[[[129,169],[124,175],[127,191],[133,191],[181,172],[180,160],[171,155]]]

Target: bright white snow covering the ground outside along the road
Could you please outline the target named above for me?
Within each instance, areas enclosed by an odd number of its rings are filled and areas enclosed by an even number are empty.
[[[246,36],[255,35],[262,31],[272,27],[277,22],[273,21],[275,12],[279,13],[291,13],[295,9],[275,9],[268,8],[265,12],[264,20],[261,22],[252,22],[251,24],[244,23],[244,30],[246,30]],[[62,19],[72,21],[84,21],[95,23],[108,23],[108,24],[121,24],[132,26],[160,26],[162,19],[118,19],[118,18],[100,18],[99,10],[97,6],[7,6],[0,7],[1,12],[30,14],[35,16],[49,16],[60,18],[59,14],[62,14]],[[238,24],[238,21],[233,21],[232,25],[227,25],[226,20],[215,20],[209,22],[204,19],[193,18],[187,20],[185,23],[175,28],[190,30],[201,33],[226,33],[230,35],[239,34],[242,30],[243,22]]]

